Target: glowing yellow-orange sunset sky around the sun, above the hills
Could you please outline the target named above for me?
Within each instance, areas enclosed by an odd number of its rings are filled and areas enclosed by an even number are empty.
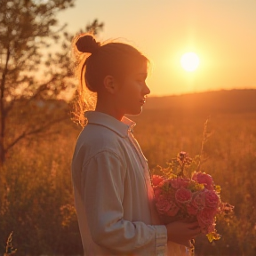
[[[152,62],[151,95],[256,88],[256,0],[76,0],[58,18],[72,33],[98,19],[99,40],[137,47]],[[200,59],[193,72],[185,52]]]

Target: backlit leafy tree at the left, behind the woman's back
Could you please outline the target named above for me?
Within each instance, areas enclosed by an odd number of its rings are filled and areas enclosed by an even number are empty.
[[[55,16],[74,2],[1,0],[0,167],[20,140],[68,118],[64,104],[55,106],[53,100],[72,86],[69,46],[73,36],[65,32],[66,25],[58,26]],[[102,28],[103,23],[94,20],[86,30],[97,33]],[[52,45],[59,45],[60,51],[52,53]],[[52,115],[52,108],[58,108],[59,114]]]

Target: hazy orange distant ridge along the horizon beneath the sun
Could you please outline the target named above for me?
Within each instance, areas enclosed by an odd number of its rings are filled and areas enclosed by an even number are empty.
[[[198,92],[164,97],[148,97],[145,109],[170,108],[196,112],[254,112],[256,89]]]

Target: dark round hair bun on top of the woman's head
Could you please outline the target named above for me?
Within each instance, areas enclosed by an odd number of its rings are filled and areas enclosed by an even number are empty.
[[[100,48],[100,43],[92,35],[85,35],[78,38],[76,48],[79,52],[93,53]]]

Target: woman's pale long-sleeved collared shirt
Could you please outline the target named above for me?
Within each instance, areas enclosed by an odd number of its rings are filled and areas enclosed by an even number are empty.
[[[84,255],[165,255],[167,230],[155,224],[147,159],[132,135],[135,123],[96,111],[85,116],[72,161]]]

